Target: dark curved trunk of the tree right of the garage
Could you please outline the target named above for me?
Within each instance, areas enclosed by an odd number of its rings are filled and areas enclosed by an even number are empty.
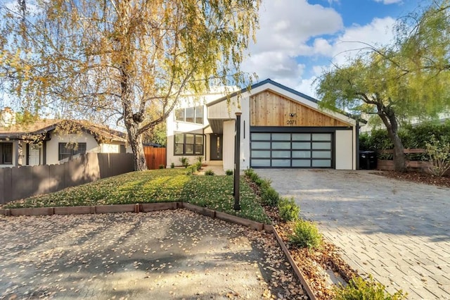
[[[387,128],[387,134],[389,135],[392,144],[394,144],[394,170],[397,172],[406,172],[406,161],[404,156],[404,146],[398,134],[399,125],[394,113],[389,109],[385,108],[383,111],[378,111],[381,120],[385,123]]]

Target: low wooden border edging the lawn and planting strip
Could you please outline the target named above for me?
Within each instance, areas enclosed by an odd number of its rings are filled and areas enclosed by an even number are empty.
[[[309,299],[316,300],[316,296],[309,287],[307,281],[304,279],[302,271],[297,267],[293,257],[290,255],[288,247],[281,239],[278,232],[272,225],[255,222],[245,218],[240,218],[236,215],[214,211],[210,208],[196,206],[184,202],[158,202],[146,204],[117,204],[117,205],[96,205],[96,206],[62,206],[62,207],[39,207],[39,208],[1,208],[0,215],[19,216],[19,215],[76,215],[76,214],[95,214],[95,213],[147,213],[150,211],[165,211],[167,209],[174,210],[185,208],[188,211],[193,211],[200,215],[205,215],[210,218],[218,218],[229,223],[243,225],[258,231],[266,231],[274,233],[278,244],[281,246],[286,258],[294,270],[295,275],[302,283],[305,292]]]

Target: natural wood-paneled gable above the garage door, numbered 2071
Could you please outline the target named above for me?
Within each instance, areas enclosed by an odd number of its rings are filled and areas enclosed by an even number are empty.
[[[251,126],[349,126],[329,115],[271,91],[250,97]]]

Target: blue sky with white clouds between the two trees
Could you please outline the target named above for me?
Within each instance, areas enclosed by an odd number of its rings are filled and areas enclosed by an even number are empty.
[[[342,64],[361,48],[354,42],[392,41],[397,18],[426,1],[266,0],[257,43],[243,70],[316,96],[314,79],[331,63]],[[350,51],[349,51],[350,50]]]

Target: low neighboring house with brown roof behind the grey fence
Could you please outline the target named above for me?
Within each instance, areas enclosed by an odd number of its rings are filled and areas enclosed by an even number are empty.
[[[5,110],[2,115],[11,111]],[[0,168],[51,165],[77,154],[124,153],[123,132],[86,121],[37,120],[30,125],[0,122]]]

